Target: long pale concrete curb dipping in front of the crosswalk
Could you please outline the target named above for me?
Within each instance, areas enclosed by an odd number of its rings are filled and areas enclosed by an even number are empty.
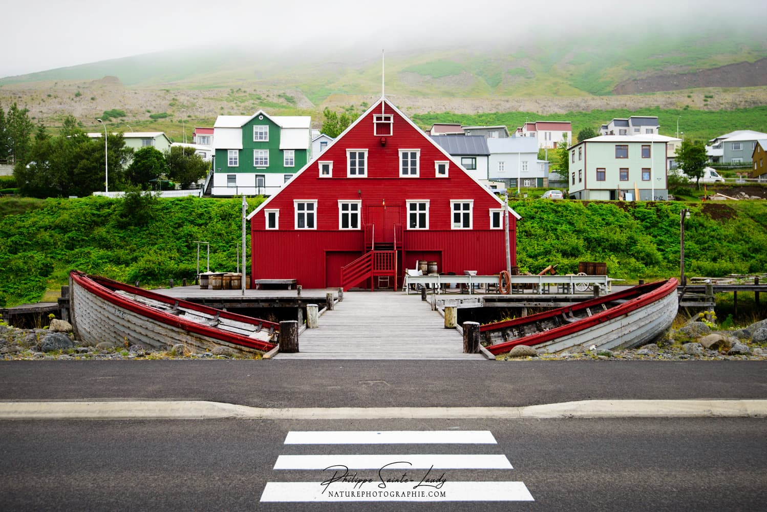
[[[0,402],[2,420],[765,418],[767,400],[582,400],[522,407],[269,409],[223,402]]]

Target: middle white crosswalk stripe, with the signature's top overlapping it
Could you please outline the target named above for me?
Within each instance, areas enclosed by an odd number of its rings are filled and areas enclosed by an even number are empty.
[[[512,469],[505,455],[279,455],[275,469]]]

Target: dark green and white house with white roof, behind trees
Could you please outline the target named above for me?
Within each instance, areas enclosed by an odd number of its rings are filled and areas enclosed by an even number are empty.
[[[311,117],[219,116],[211,195],[272,195],[311,157]]]

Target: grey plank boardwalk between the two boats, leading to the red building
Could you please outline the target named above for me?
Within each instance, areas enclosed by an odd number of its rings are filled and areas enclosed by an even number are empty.
[[[352,291],[298,336],[298,353],[277,359],[485,359],[464,354],[463,336],[420,295]]]

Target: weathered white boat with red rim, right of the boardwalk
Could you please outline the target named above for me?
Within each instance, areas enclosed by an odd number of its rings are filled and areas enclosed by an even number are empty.
[[[650,343],[671,327],[677,281],[640,284],[614,294],[528,317],[479,327],[486,349],[498,355],[518,345],[561,352],[574,346],[620,350]]]

